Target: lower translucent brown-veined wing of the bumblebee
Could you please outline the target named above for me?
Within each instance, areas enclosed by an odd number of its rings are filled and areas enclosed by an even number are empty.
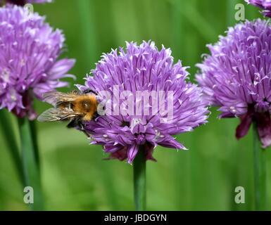
[[[81,113],[75,113],[72,109],[65,108],[49,108],[48,110],[44,111],[37,120],[39,122],[52,122],[57,120],[67,120],[72,117],[80,116]]]

